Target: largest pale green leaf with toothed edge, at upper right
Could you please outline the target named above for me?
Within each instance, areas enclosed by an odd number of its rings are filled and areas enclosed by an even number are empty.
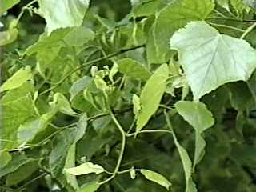
[[[194,100],[227,82],[246,81],[256,67],[249,43],[219,34],[206,22],[190,22],[174,34],[170,46],[178,50]]]

